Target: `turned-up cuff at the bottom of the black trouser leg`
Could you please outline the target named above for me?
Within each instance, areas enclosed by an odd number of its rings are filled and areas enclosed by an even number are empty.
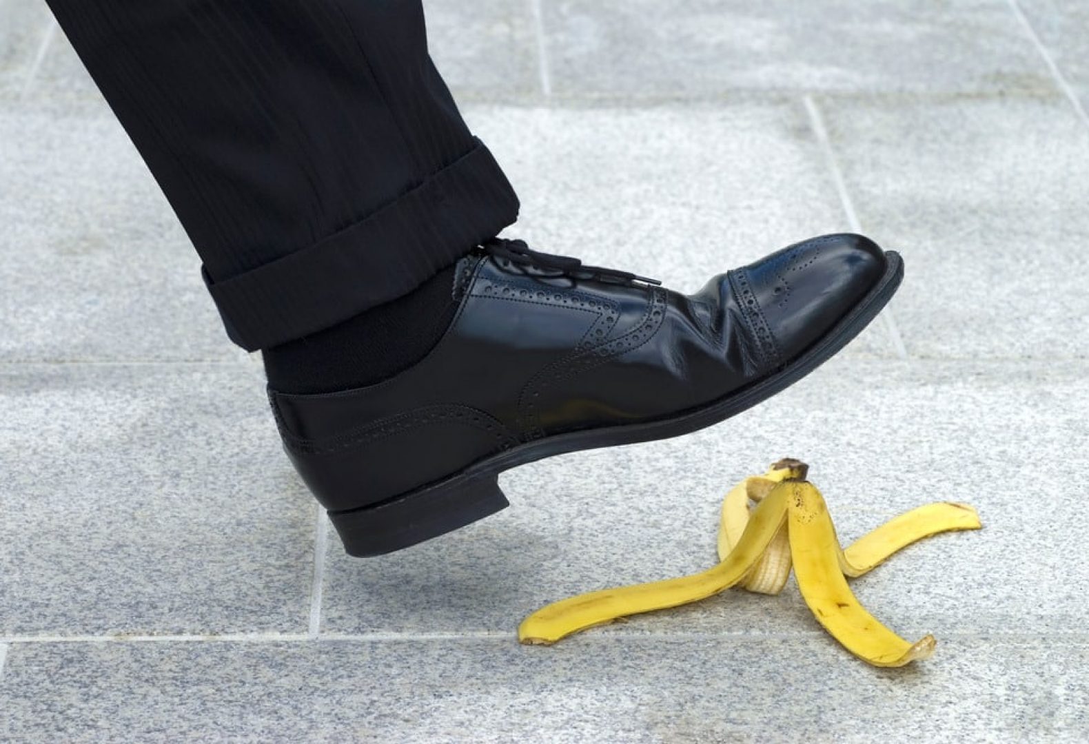
[[[248,351],[321,331],[405,295],[512,224],[518,199],[476,147],[364,220],[302,250],[205,284]]]

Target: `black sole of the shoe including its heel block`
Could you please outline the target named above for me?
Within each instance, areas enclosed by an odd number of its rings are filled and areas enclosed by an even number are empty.
[[[379,556],[423,543],[510,506],[499,474],[546,457],[668,439],[724,421],[783,390],[834,357],[877,318],[904,278],[904,262],[885,253],[885,272],[851,312],[778,372],[706,406],[653,421],[556,434],[498,452],[431,485],[379,505],[329,512],[348,555]]]

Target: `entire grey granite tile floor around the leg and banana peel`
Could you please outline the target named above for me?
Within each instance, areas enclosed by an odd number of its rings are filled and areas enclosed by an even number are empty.
[[[535,245],[693,289],[864,230],[903,290],[756,410],[348,559],[46,5],[0,0],[0,741],[1089,737],[1086,3],[426,5]],[[866,667],[790,588],[517,645],[543,603],[706,567],[725,487],[787,454],[845,538],[979,508],[856,583],[933,659]]]

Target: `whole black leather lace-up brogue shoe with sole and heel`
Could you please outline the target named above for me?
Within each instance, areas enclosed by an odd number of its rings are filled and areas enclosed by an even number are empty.
[[[896,253],[829,235],[685,296],[495,239],[463,259],[454,322],[415,367],[269,397],[345,549],[378,555],[507,506],[497,476],[510,468],[676,436],[760,402],[854,338],[902,276]]]

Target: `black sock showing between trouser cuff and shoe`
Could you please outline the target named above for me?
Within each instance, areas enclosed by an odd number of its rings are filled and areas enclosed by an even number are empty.
[[[455,265],[415,290],[319,333],[265,349],[265,374],[279,393],[363,387],[412,367],[435,348],[457,311]]]

